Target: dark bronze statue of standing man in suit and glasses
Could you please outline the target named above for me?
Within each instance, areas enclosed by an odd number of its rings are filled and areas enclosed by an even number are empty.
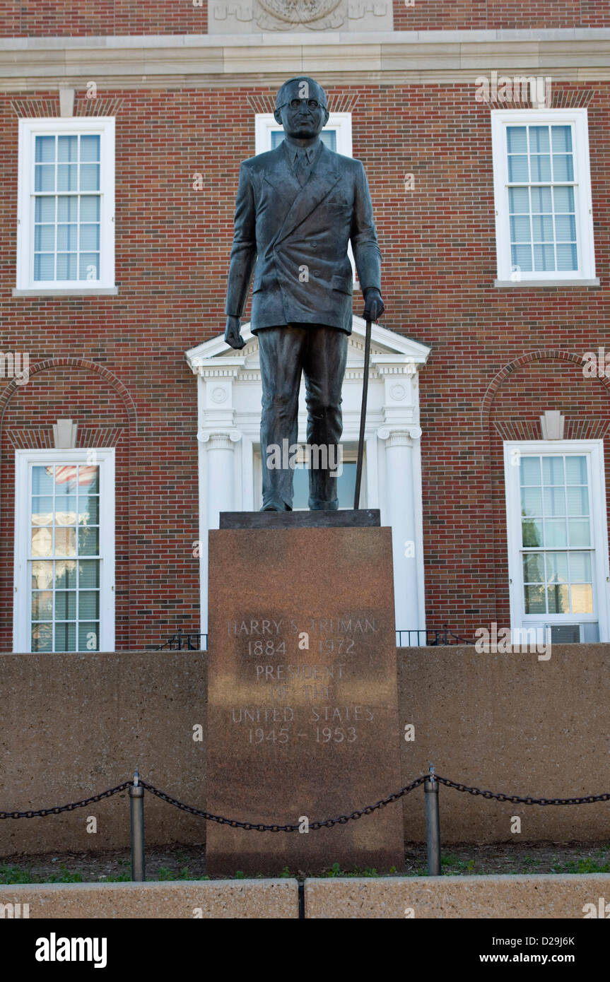
[[[251,330],[262,379],[262,511],[292,510],[293,469],[271,448],[297,443],[299,388],[305,373],[307,445],[325,447],[309,469],[309,508],[336,509],[333,464],[342,433],[341,388],[352,333],[351,242],[364,297],[363,316],[383,313],[381,256],[360,160],[320,140],[328,122],[324,89],[306,76],[284,82],[275,119],[285,138],[245,160],[235,211],[225,340],[243,348],[240,320],[254,270]],[[255,263],[255,268],[254,268]],[[283,441],[288,441],[285,444]],[[294,464],[293,464],[294,465]]]

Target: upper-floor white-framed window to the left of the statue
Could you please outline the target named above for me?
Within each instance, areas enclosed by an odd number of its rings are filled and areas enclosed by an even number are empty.
[[[20,119],[19,291],[115,291],[112,117]]]

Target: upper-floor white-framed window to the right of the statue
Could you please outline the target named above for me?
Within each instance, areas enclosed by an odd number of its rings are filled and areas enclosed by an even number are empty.
[[[491,112],[499,283],[595,281],[586,109]]]

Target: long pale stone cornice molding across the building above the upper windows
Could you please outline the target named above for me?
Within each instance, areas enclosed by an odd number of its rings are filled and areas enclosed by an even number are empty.
[[[610,28],[428,30],[0,38],[0,87],[40,90],[93,79],[105,89],[168,83],[228,87],[287,73],[320,82],[468,83],[482,72],[610,80]]]

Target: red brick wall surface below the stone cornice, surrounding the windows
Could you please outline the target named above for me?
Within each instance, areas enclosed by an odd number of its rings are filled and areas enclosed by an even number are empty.
[[[602,288],[516,291],[493,288],[489,108],[474,100],[473,86],[345,89],[346,95],[356,95],[354,154],[367,170],[383,254],[388,312],[382,323],[433,349],[420,385],[430,625],[447,622],[464,632],[507,616],[496,415],[502,419],[503,413],[514,412],[517,419],[535,420],[544,409],[563,409],[574,417],[607,414],[605,390],[593,395],[596,383],[584,384],[580,369],[546,360],[512,373],[482,425],[480,416],[485,392],[503,366],[538,350],[582,355],[607,337],[610,86],[589,87],[595,253]],[[248,88],[253,96],[269,91]],[[568,102],[587,98],[583,85],[558,83],[554,91]],[[198,534],[196,391],[184,352],[224,326],[239,161],[254,152],[253,111],[245,93],[205,88],[112,92],[121,100],[120,288],[116,298],[97,299],[12,297],[18,117],[13,97],[0,99],[0,351],[28,351],[32,364],[62,355],[95,361],[120,379],[138,413],[139,436],[124,429],[118,449],[122,462],[129,449],[132,527],[127,557],[124,539],[117,549],[124,564],[121,590],[129,591],[120,599],[122,648],[159,643],[180,624],[198,627],[192,556]],[[334,89],[333,95],[341,90]],[[27,98],[56,104],[51,92],[22,93],[22,109]],[[203,175],[202,191],[193,190],[195,173]],[[405,191],[407,173],[415,175],[415,191]],[[361,312],[360,300],[356,311]],[[91,425],[124,419],[125,403],[116,390],[90,373],[86,384],[82,374],[75,378],[81,382],[74,409],[65,394],[69,374],[32,378],[7,409],[5,428],[20,413],[28,425],[38,416],[45,425],[58,414],[84,419],[87,409]],[[0,400],[6,384],[0,379]],[[11,646],[13,573],[6,543],[12,541],[12,449],[6,439],[2,455],[0,650]]]

